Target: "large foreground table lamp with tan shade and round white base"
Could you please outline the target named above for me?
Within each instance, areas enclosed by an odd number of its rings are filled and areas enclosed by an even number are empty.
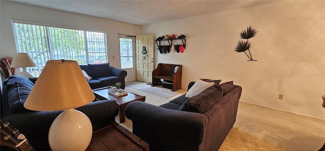
[[[92,137],[89,118],[74,108],[95,99],[77,61],[46,62],[24,107],[30,110],[63,110],[49,131],[52,150],[85,150]]]

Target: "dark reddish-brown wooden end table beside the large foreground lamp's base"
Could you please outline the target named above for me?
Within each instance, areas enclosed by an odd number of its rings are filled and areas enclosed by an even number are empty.
[[[86,149],[91,150],[145,150],[149,144],[116,122],[93,132],[91,142]]]

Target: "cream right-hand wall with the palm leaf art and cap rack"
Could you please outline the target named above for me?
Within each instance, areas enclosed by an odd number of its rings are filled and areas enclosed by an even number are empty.
[[[257,30],[249,40],[257,61],[234,51],[249,25]],[[184,53],[155,54],[156,65],[183,65],[183,89],[199,78],[234,81],[243,88],[241,101],[325,119],[324,1],[282,1],[188,17],[142,26],[141,34],[186,35]]]

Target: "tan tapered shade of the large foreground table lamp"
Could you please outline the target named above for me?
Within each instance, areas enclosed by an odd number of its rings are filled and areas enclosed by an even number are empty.
[[[24,107],[30,110],[64,110],[80,107],[95,99],[77,61],[46,62]]]

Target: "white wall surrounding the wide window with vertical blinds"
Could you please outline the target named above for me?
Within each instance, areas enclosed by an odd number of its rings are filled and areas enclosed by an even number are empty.
[[[1,45],[0,47],[1,57],[14,56],[16,53],[15,40],[10,19],[20,19],[49,24],[104,30],[107,32],[109,63],[111,66],[115,67],[118,67],[119,63],[118,33],[128,35],[137,35],[140,33],[140,26],[137,25],[9,1],[0,1],[0,3],[1,39],[2,44],[6,44]],[[113,57],[115,57],[115,59],[113,59]],[[127,79],[134,79],[133,77],[135,77],[135,75],[128,74],[126,81]]]

